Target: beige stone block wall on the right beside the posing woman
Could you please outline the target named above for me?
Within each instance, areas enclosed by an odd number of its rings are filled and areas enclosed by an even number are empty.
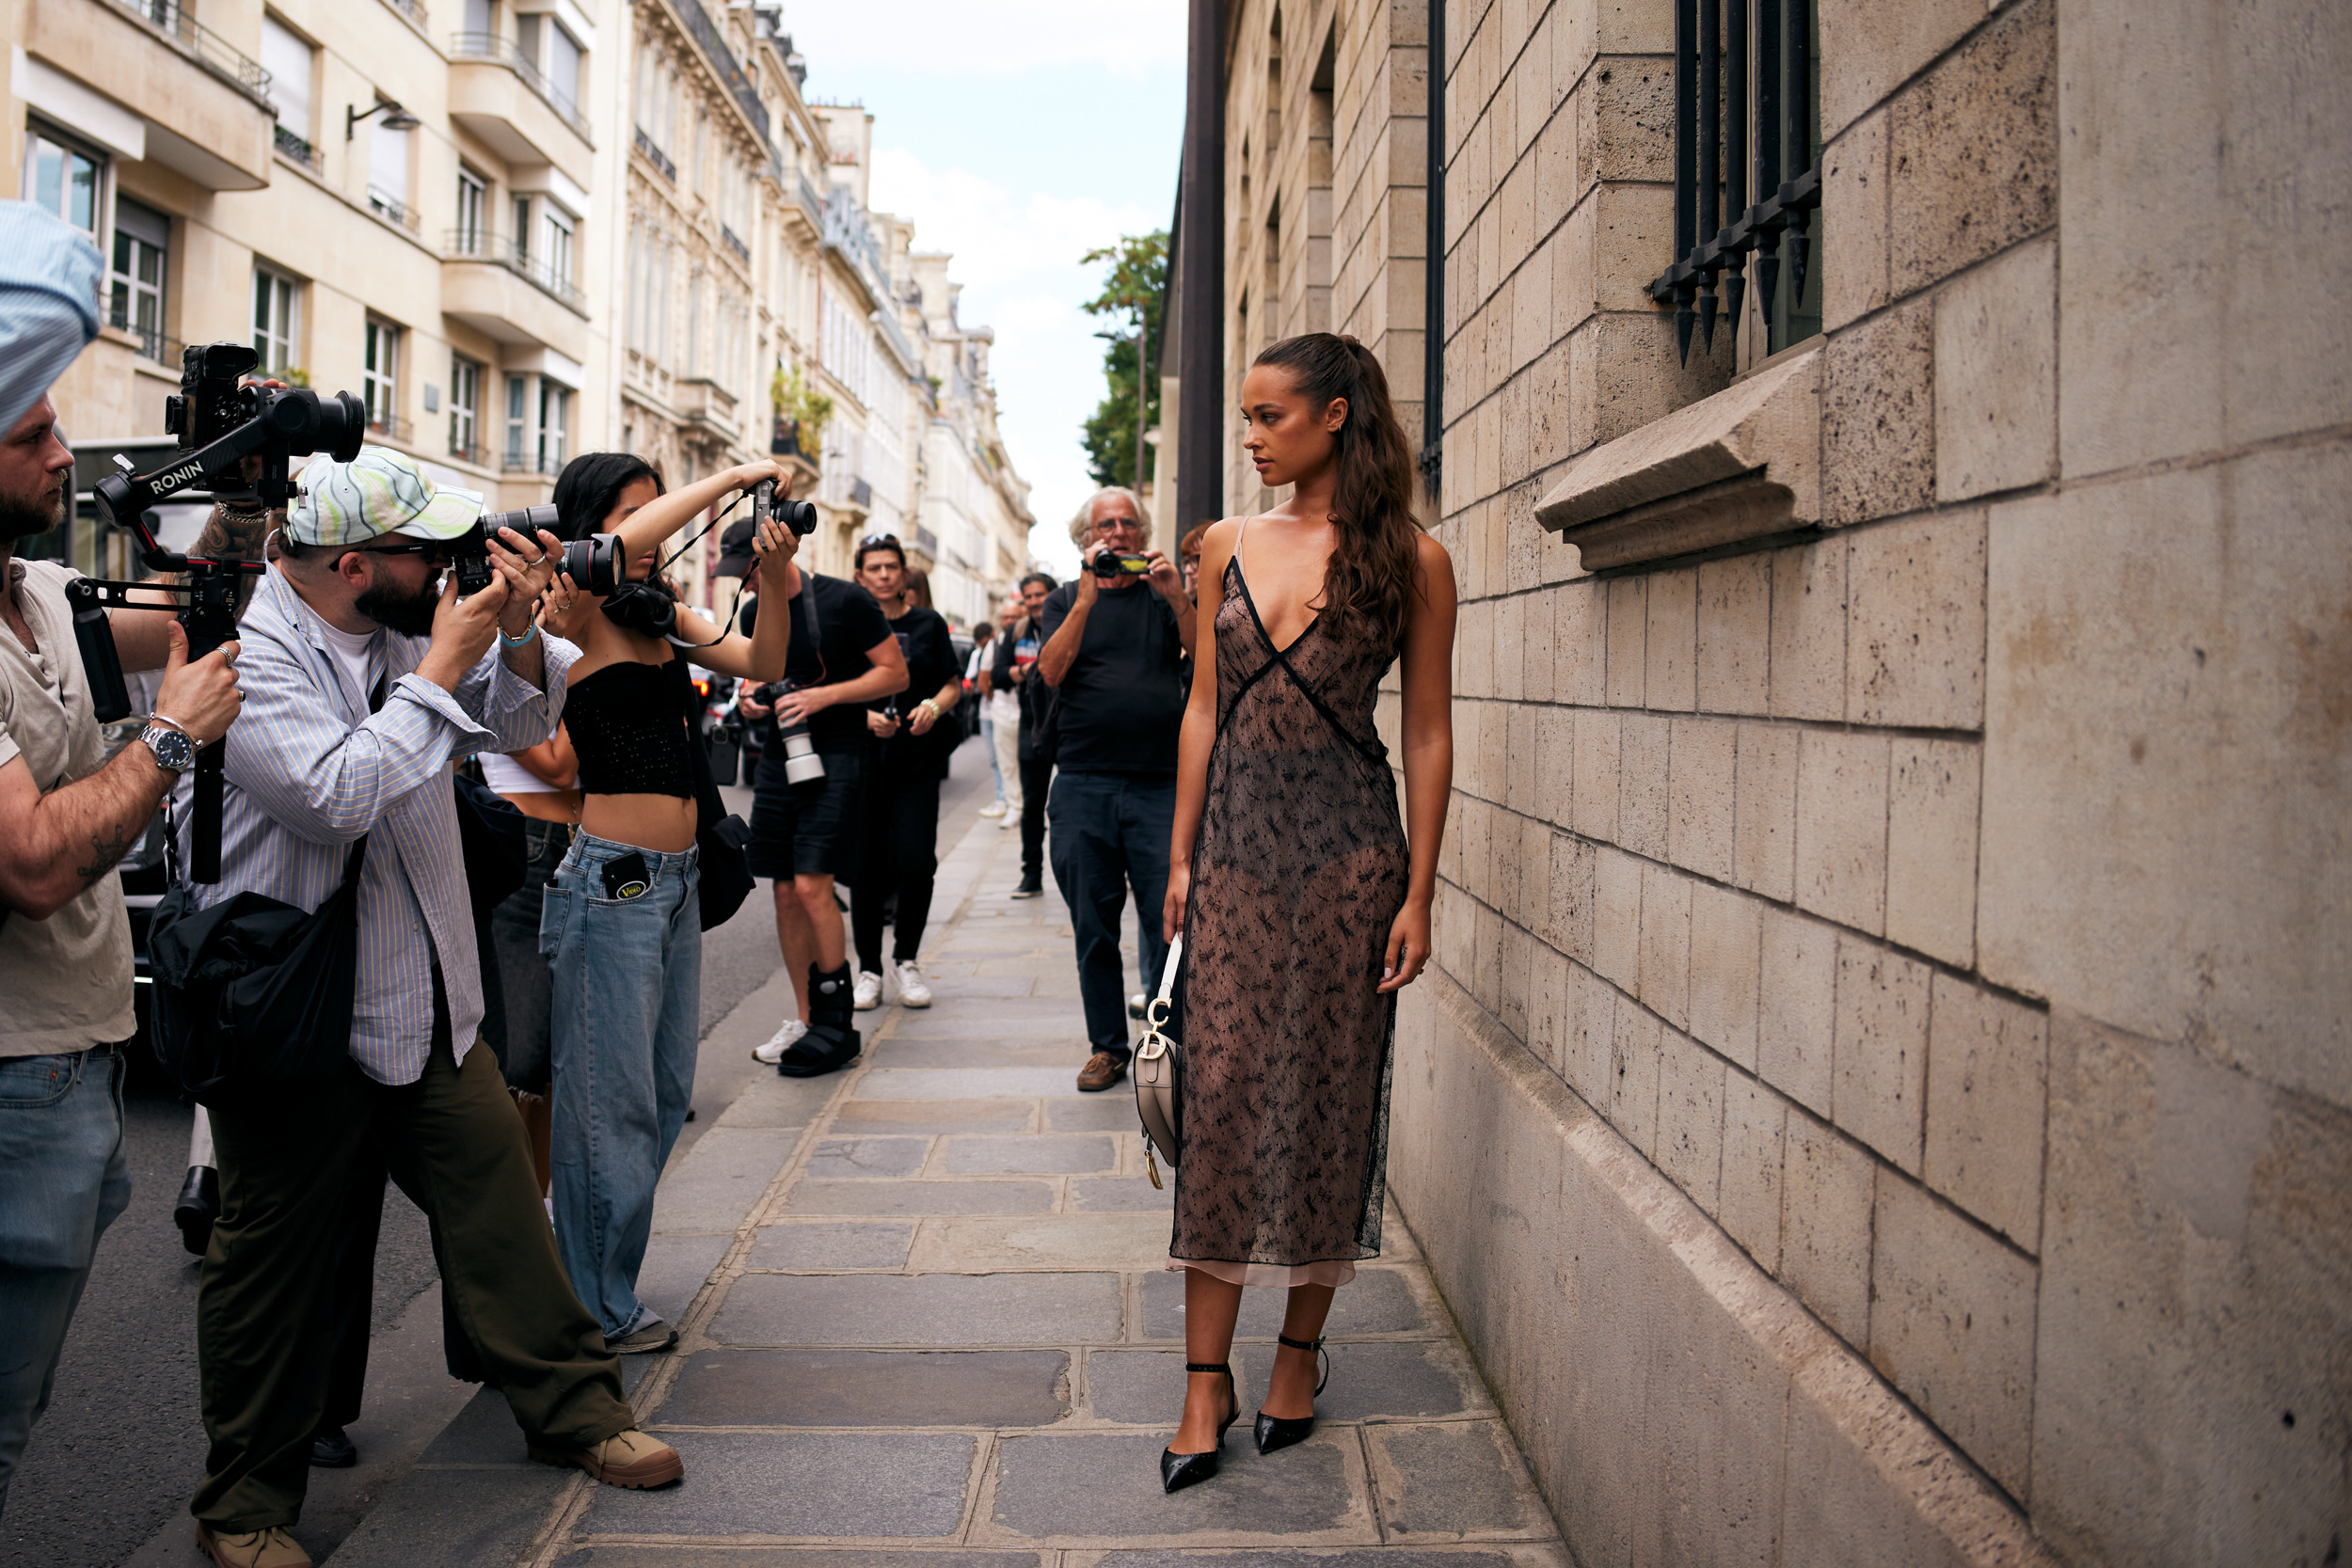
[[[1675,5],[1442,21],[1456,797],[1390,1178],[1569,1544],[2331,1561],[2352,329],[2288,280],[2347,12],[1820,0],[1820,331],[1750,294],[1686,364]],[[1423,7],[1225,38],[1223,378],[1329,324],[1414,395]]]

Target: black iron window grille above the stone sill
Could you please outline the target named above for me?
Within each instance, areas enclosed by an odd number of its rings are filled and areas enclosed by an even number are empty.
[[[1792,322],[1818,294],[1816,71],[1813,0],[1675,0],[1675,263],[1649,294],[1684,360],[1693,327],[1710,353],[1717,315],[1738,331],[1750,266],[1766,348],[1809,336]]]

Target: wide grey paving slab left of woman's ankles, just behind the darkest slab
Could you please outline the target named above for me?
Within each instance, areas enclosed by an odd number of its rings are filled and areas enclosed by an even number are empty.
[[[1105,1345],[1117,1274],[746,1274],[722,1345]]]

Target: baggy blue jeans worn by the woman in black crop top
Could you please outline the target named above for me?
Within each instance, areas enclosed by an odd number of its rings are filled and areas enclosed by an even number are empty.
[[[647,889],[609,898],[604,865],[642,853]],[[637,1269],[654,1182],[687,1124],[701,1027],[703,917],[694,851],[572,839],[539,917],[555,1067],[555,1246],[581,1305],[621,1340],[654,1314]]]

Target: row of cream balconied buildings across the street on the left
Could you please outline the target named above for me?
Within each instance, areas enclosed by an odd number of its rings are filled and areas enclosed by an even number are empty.
[[[240,341],[494,505],[581,451],[684,482],[779,449],[823,571],[901,531],[962,623],[1028,564],[988,331],[868,212],[870,115],[802,99],[776,7],[26,0],[0,35],[14,190],[113,263],[56,386],[78,447],[167,442],[181,346]],[[795,369],[821,442],[779,428]],[[675,569],[703,602],[715,543]],[[129,564],[87,520],[71,548]]]

